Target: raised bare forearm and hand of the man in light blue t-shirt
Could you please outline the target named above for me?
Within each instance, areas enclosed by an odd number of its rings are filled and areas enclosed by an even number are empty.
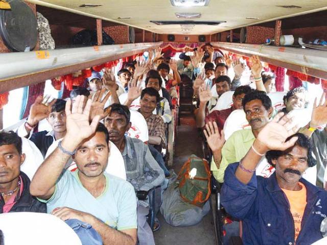
[[[71,112],[71,101],[66,102],[67,133],[61,145],[63,149],[73,152],[77,146],[95,132],[100,116],[96,115],[89,124],[91,100],[88,100],[83,110],[84,96],[78,95]],[[71,156],[58,148],[44,160],[37,169],[30,185],[30,192],[35,197],[48,200],[55,191],[55,185],[66,162]]]

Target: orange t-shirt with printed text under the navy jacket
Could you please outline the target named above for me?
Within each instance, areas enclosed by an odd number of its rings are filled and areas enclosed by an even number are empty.
[[[282,189],[290,203],[291,213],[294,219],[295,241],[301,230],[302,216],[307,205],[307,189],[306,186],[298,182],[302,187],[300,190]]]

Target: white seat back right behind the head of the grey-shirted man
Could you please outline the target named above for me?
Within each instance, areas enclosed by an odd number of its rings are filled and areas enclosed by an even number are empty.
[[[143,115],[137,111],[129,110],[131,112],[131,128],[125,133],[126,136],[136,139],[141,139],[143,142],[149,141],[149,131],[147,121]]]

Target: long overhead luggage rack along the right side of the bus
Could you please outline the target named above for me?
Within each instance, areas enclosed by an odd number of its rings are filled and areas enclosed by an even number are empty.
[[[313,77],[327,79],[327,52],[300,47],[271,46],[211,42],[220,50],[250,57],[256,55],[261,61],[301,72]]]

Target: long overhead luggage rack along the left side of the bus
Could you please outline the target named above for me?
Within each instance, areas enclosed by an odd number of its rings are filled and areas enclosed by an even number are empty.
[[[0,54],[0,93],[133,56],[161,44],[131,43],[3,53]]]

